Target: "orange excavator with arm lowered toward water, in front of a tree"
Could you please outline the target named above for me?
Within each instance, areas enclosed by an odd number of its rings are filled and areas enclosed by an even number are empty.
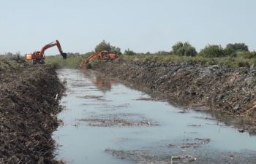
[[[83,69],[84,66],[86,66],[87,63],[89,63],[91,60],[94,60],[94,58],[99,58],[100,60],[114,60],[119,57],[117,53],[108,53],[108,51],[101,51],[96,52],[94,55],[91,55],[89,58],[86,58],[83,60],[83,63],[80,64],[78,67],[79,69]]]

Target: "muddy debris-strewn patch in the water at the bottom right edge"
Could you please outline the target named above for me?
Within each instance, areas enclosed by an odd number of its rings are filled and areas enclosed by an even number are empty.
[[[207,138],[187,138],[180,144],[163,144],[158,147],[143,147],[133,150],[105,149],[113,158],[132,160],[140,164],[170,163],[248,163],[256,160],[256,152],[244,149],[241,152],[222,152],[207,146]]]

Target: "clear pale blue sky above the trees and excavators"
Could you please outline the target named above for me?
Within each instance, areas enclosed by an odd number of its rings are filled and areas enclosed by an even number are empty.
[[[63,52],[105,40],[134,52],[170,51],[189,42],[245,43],[256,50],[255,0],[0,0],[0,54],[21,55],[59,40]],[[45,55],[59,54],[57,47]]]

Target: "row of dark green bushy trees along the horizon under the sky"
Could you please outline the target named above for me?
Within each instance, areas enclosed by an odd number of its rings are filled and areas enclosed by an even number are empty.
[[[96,45],[94,51],[87,52],[93,54],[93,52],[100,52],[102,50],[107,50],[110,53],[118,53],[119,55],[178,55],[178,56],[202,56],[206,58],[220,58],[220,57],[236,57],[238,52],[242,52],[244,54],[244,58],[256,58],[256,52],[249,52],[248,46],[245,43],[235,43],[235,44],[227,44],[226,47],[222,47],[221,45],[216,44],[208,44],[206,47],[197,52],[195,47],[193,47],[189,42],[176,42],[172,46],[172,50],[170,52],[167,51],[158,51],[155,53],[146,52],[146,53],[138,53],[132,50],[124,50],[124,54],[121,52],[121,48],[112,46],[110,42],[105,42],[103,40],[99,44]],[[87,54],[86,53],[86,54]]]

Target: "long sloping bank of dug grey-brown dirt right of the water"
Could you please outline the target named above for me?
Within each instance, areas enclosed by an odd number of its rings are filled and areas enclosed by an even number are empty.
[[[190,104],[256,117],[256,68],[202,66],[197,63],[153,63],[115,60],[94,70]]]

